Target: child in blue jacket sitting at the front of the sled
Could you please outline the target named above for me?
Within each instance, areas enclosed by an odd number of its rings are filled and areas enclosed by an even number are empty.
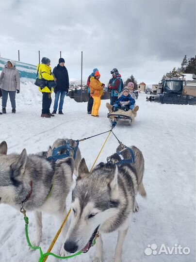
[[[129,111],[130,109],[133,111],[138,110],[138,106],[134,108],[135,100],[131,97],[129,93],[129,89],[124,88],[122,91],[122,96],[119,97],[116,101],[114,106],[112,107],[112,111],[116,112],[118,109]],[[138,108],[137,108],[138,107]]]

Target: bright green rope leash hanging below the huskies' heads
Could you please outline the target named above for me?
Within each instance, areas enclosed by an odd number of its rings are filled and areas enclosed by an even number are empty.
[[[27,239],[27,243],[28,243],[28,246],[30,246],[32,249],[39,249],[39,252],[40,252],[40,258],[39,258],[39,261],[38,262],[43,262],[44,261],[44,258],[47,257],[47,256],[53,256],[57,259],[69,259],[69,258],[73,258],[75,256],[78,256],[80,254],[82,254],[82,251],[79,251],[78,253],[74,254],[74,255],[71,255],[71,256],[67,256],[67,257],[60,257],[60,256],[57,256],[53,253],[44,253],[42,252],[42,249],[40,246],[32,246],[31,245],[31,242],[29,240],[29,234],[28,234],[28,225],[29,225],[29,218],[27,216],[24,216],[24,221],[25,221],[25,234],[26,234],[26,239]]]

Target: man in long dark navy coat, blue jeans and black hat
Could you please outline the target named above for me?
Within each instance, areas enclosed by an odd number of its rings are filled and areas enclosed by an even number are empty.
[[[65,60],[63,58],[59,58],[59,64],[54,67],[53,74],[56,78],[57,86],[54,88],[55,99],[54,99],[54,110],[52,114],[56,114],[59,102],[59,114],[63,115],[63,103],[65,95],[69,90],[69,76],[65,65]]]

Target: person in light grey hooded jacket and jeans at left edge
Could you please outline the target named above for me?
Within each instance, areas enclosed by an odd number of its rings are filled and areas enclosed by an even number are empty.
[[[15,64],[15,61],[9,60],[0,74],[3,114],[6,114],[8,94],[12,105],[12,113],[16,113],[16,93],[19,94],[20,92],[20,77]]]

